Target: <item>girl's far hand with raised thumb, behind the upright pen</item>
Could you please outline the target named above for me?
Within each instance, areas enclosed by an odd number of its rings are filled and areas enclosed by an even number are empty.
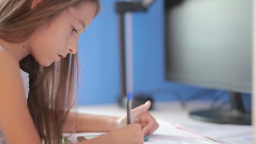
[[[152,134],[159,127],[159,124],[155,118],[148,112],[150,105],[151,102],[147,101],[145,104],[142,104],[131,111],[131,123],[139,123],[146,135]],[[117,120],[117,123],[120,125],[120,127],[125,126],[126,116],[120,117]]]

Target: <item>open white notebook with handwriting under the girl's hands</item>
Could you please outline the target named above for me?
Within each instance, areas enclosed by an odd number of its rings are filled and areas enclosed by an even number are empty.
[[[243,131],[241,129],[243,134],[239,134],[239,129],[237,129],[238,133],[234,133],[236,131],[234,127],[221,126],[215,129],[216,133],[229,133],[228,135],[226,134],[226,137],[221,137],[205,136],[204,133],[197,133],[176,123],[166,123],[164,121],[158,121],[158,123],[160,125],[159,128],[149,136],[149,140],[144,144],[253,144],[252,128],[250,127],[243,128]],[[66,138],[66,144],[77,143],[77,136],[98,134],[103,133],[74,133]],[[67,135],[68,133],[64,134],[64,136]]]

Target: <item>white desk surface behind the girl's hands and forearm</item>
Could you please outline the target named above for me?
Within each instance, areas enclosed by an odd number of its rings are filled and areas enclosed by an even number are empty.
[[[154,109],[149,111],[156,119],[174,123],[198,124],[198,122],[189,118],[188,112],[195,109],[208,108],[209,101],[197,101],[187,104],[187,108],[183,109],[177,101],[156,102]],[[119,107],[117,104],[103,104],[79,107],[79,112],[96,114],[123,116],[126,115],[126,109]]]

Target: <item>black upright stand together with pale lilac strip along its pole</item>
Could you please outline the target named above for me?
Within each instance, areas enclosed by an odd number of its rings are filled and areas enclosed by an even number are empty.
[[[119,28],[119,62],[120,62],[120,93],[118,95],[118,104],[121,107],[127,107],[128,91],[133,93],[133,23],[132,13],[147,12],[148,8],[155,0],[139,1],[117,1],[115,11],[118,15]],[[125,45],[126,44],[126,45]],[[149,110],[152,109],[154,102],[150,94],[133,94],[132,108],[139,107],[151,101]]]

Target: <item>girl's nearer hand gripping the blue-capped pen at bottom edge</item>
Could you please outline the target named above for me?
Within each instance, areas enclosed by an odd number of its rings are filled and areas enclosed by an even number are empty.
[[[144,132],[138,123],[125,125],[124,128],[115,129],[109,132],[111,144],[143,144]]]

